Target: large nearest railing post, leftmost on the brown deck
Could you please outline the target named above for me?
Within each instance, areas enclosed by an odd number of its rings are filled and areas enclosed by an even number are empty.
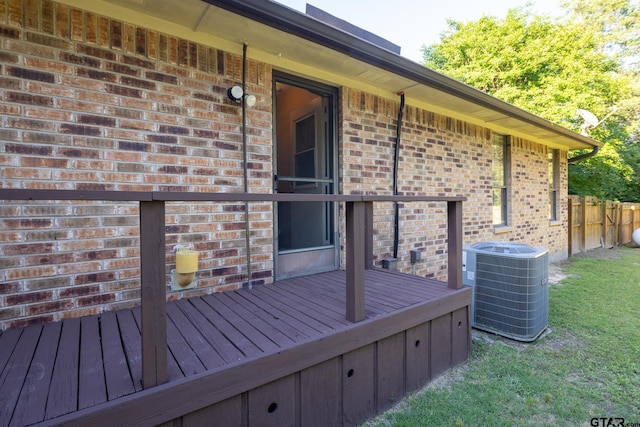
[[[140,301],[144,388],[169,380],[164,252],[164,202],[140,202]]]

